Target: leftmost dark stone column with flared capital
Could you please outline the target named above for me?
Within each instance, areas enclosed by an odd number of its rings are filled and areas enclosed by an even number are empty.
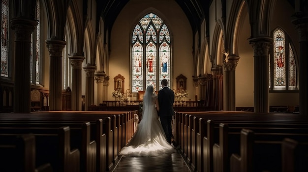
[[[37,24],[37,21],[25,18],[11,20],[15,32],[14,112],[17,113],[30,112],[31,33]]]

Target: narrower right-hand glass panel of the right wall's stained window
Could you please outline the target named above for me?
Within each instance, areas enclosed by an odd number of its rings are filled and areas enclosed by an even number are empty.
[[[294,53],[289,44],[289,88],[296,88],[296,65]]]

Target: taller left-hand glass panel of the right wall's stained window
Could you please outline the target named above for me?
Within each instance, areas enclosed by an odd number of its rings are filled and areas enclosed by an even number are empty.
[[[274,33],[274,60],[274,87],[285,88],[285,36],[280,29]]]

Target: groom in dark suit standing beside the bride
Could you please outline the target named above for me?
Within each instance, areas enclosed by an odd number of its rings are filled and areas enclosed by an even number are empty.
[[[174,92],[168,88],[168,80],[161,81],[162,89],[158,91],[159,118],[162,128],[165,131],[166,139],[171,144],[172,137],[172,116],[174,115],[173,102]]]

